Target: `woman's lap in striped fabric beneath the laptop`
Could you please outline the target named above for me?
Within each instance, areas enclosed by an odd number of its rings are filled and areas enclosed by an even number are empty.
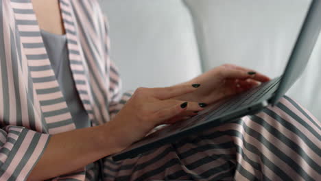
[[[104,162],[105,180],[317,180],[320,122],[288,97],[136,158]]]

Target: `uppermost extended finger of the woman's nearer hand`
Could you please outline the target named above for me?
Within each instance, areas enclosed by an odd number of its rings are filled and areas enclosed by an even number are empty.
[[[169,86],[164,88],[152,88],[152,93],[158,99],[170,99],[180,95],[185,95],[187,93],[192,93],[193,91],[197,90],[198,86],[200,86],[200,84],[180,84],[177,86]]]

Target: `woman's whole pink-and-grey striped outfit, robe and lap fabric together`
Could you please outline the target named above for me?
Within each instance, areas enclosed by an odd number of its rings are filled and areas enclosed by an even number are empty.
[[[60,0],[75,86],[92,125],[129,93],[108,56],[95,0]],[[0,0],[0,180],[25,180],[51,134],[74,130],[29,0]],[[104,158],[104,180],[321,180],[320,121],[289,97],[254,116],[188,136],[136,158]],[[98,168],[52,180],[95,180]]]

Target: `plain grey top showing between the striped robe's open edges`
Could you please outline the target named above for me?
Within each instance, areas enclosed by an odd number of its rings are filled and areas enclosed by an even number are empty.
[[[62,90],[62,95],[67,102],[76,128],[87,128],[91,126],[91,121],[88,119],[88,114],[75,88],[75,82],[73,81],[73,75],[69,67],[66,36],[51,34],[43,30],[40,32],[41,36],[43,36],[43,42],[45,43],[51,67],[55,72],[60,90]]]

